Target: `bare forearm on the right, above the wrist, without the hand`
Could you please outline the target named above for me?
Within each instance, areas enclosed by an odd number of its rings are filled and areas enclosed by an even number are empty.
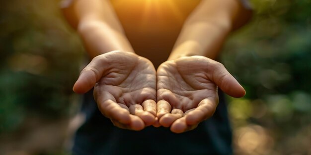
[[[215,59],[228,34],[250,17],[237,0],[205,0],[185,22],[169,60],[203,55]]]

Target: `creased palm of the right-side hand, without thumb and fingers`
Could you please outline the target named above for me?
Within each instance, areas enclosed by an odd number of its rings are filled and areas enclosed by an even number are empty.
[[[157,70],[158,100],[165,100],[173,109],[183,112],[197,107],[203,99],[217,100],[217,87],[204,75],[201,66],[192,62],[182,63],[187,66],[167,61]]]

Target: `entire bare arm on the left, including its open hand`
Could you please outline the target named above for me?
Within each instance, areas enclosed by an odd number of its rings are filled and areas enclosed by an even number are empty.
[[[156,115],[156,70],[134,53],[109,0],[65,0],[63,13],[77,29],[92,61],[74,85],[94,87],[101,113],[120,128],[142,130]]]

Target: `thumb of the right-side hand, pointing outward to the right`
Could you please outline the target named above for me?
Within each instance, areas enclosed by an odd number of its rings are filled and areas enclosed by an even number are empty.
[[[236,81],[236,79],[227,71],[225,66],[219,62],[214,64],[212,79],[215,84],[228,95],[240,98],[245,95],[244,88]]]

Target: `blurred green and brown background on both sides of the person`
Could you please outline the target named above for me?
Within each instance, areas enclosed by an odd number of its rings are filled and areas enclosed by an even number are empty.
[[[0,1],[1,155],[68,155],[84,52],[59,1]],[[234,152],[311,155],[311,0],[250,1],[221,56],[247,91],[228,98]]]

